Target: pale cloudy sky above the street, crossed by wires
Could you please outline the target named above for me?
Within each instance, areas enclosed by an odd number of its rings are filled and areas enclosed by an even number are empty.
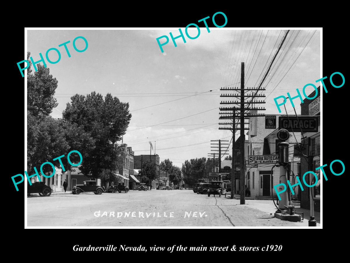
[[[132,118],[124,143],[132,147],[135,155],[149,154],[148,141],[153,146],[156,141],[160,161],[169,158],[181,167],[187,159],[207,158],[210,140],[232,137],[231,131],[218,129],[218,107],[224,106],[219,103],[232,100],[221,98],[221,93],[228,92],[220,92],[219,88],[240,87],[241,62],[245,62],[245,87],[258,87],[286,31],[210,28],[208,33],[206,28],[201,28],[197,39],[188,39],[186,35],[186,43],[176,39],[177,47],[169,32],[179,35],[176,29],[28,30],[28,51],[34,61],[40,59],[40,52],[45,56],[49,48],[61,51],[58,63],[47,62],[50,74],[58,81],[55,94],[58,106],[52,117],[62,117],[73,94],[112,93],[130,105]],[[191,36],[196,33],[189,30]],[[163,46],[164,53],[156,41],[162,35],[170,39]],[[87,39],[89,46],[85,52],[73,49],[72,41],[77,36]],[[63,47],[58,47],[68,40],[71,58]],[[77,41],[77,47],[84,48],[83,40]],[[50,59],[57,59],[55,52],[50,52]],[[266,103],[257,106],[266,110],[260,113],[278,114],[274,97],[287,96],[287,92],[295,96],[295,89],[302,93],[307,83],[319,86],[315,80],[321,77],[320,31],[290,31],[262,85],[266,87],[262,92]],[[306,94],[312,91],[308,87]],[[176,101],[168,102],[172,100]],[[160,104],[163,102],[168,103]],[[300,100],[294,103],[300,114]],[[288,114],[293,114],[289,101],[286,106]],[[148,108],[141,109],[144,107]]]

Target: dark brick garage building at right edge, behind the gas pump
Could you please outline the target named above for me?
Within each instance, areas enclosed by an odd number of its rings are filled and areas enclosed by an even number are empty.
[[[320,108],[320,86],[317,88],[317,96],[313,100],[304,100],[304,103],[301,103],[301,115],[309,115],[309,116],[320,116],[321,113],[321,108]],[[308,97],[313,97],[316,94],[316,90],[312,92]],[[321,198],[321,178],[320,178],[320,169],[315,170],[315,168],[320,167],[322,164],[320,163],[320,148],[321,148],[321,141],[320,141],[320,130],[321,130],[321,120],[320,117],[318,117],[318,132],[317,133],[303,133],[304,139],[301,141],[302,144],[304,144],[304,148],[306,148],[306,153],[307,155],[313,155],[313,163],[312,165],[312,171],[314,171],[317,174],[318,178],[318,183],[315,187],[313,187],[313,192],[314,192],[314,202],[316,203],[314,205],[314,210],[317,212],[320,212],[320,198]],[[304,191],[301,191],[301,203],[300,207],[304,209],[310,209],[310,188],[307,187],[303,180],[302,176],[304,173],[307,171],[310,171],[309,166],[308,166],[308,161],[306,158],[302,157],[300,160],[301,163],[301,173],[300,173],[300,181],[301,184],[304,188]],[[312,185],[310,181],[310,174],[307,174],[305,176],[305,181],[309,184]],[[313,175],[311,176],[311,179],[313,179]],[[315,180],[315,179],[313,179]]]

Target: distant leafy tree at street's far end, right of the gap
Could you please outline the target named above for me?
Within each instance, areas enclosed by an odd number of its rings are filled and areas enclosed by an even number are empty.
[[[203,178],[206,161],[207,159],[205,157],[191,159],[190,161],[186,160],[182,164],[183,181],[192,186]]]

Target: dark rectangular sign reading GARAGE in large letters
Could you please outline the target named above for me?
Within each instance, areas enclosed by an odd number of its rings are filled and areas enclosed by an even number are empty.
[[[308,117],[308,116],[280,116],[278,118],[280,129],[286,129],[288,131],[303,132],[310,131],[318,132],[318,117]],[[300,123],[300,125],[299,125]]]

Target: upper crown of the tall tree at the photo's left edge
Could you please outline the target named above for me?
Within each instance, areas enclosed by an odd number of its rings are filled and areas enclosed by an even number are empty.
[[[30,62],[30,52],[27,60]],[[27,69],[27,104],[28,111],[33,116],[48,116],[58,103],[55,95],[58,81],[50,75],[50,69],[36,64],[37,71],[32,74],[31,67]],[[28,123],[29,124],[29,123]]]

